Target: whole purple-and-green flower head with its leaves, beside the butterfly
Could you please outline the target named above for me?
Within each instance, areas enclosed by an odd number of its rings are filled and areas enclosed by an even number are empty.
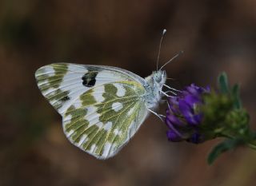
[[[218,89],[191,84],[175,97],[168,97],[166,133],[173,142],[200,144],[224,137],[208,156],[211,164],[222,152],[239,145],[256,149],[256,133],[250,129],[250,117],[242,108],[239,87],[228,85],[226,73],[218,77]]]

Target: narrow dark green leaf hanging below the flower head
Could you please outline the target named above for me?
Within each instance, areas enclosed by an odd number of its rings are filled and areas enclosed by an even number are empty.
[[[237,147],[239,144],[241,144],[242,141],[238,139],[234,140],[223,140],[221,143],[217,144],[210,152],[207,158],[208,164],[213,164],[214,160],[218,158],[219,155],[221,155],[223,152],[229,151],[230,149],[233,149]]]

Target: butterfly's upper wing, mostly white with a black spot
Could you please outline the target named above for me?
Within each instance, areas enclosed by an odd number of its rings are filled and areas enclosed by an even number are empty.
[[[114,81],[142,81],[142,77],[123,69],[70,63],[42,66],[36,71],[35,77],[43,96],[62,116],[70,105],[74,105],[74,100],[96,85]],[[76,104],[75,108],[81,106],[78,101]]]

